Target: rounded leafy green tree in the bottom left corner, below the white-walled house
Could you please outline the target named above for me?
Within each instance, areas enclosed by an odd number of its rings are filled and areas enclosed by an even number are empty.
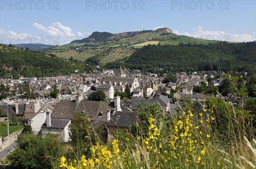
[[[12,166],[20,169],[56,169],[62,153],[59,135],[34,135],[25,132],[18,136],[17,147],[6,159]]]

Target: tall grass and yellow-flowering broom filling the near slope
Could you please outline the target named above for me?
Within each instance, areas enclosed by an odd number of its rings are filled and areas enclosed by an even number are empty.
[[[67,160],[62,156],[60,168],[256,168],[255,129],[250,121],[247,124],[243,116],[238,115],[243,111],[226,104],[227,112],[223,116],[227,121],[222,124],[225,127],[216,130],[219,118],[215,114],[215,104],[207,109],[204,107],[202,105],[197,113],[191,106],[184,107],[169,118],[148,112],[147,121],[140,118],[134,126],[135,134],[127,130],[122,136],[116,135],[110,143],[92,144],[90,157],[82,155]]]

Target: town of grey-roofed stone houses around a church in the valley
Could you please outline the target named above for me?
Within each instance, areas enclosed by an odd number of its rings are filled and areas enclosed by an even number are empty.
[[[0,79],[0,83],[6,86],[12,96],[2,99],[0,107],[3,114],[0,121],[6,121],[7,115],[17,116],[29,124],[35,134],[47,132],[58,133],[61,129],[63,141],[69,141],[68,125],[74,112],[79,111],[90,116],[92,124],[103,124],[116,132],[124,130],[132,123],[136,123],[137,103],[157,103],[161,110],[175,113],[180,101],[191,99],[192,101],[204,101],[215,97],[223,98],[227,102],[244,106],[240,96],[236,93],[228,93],[227,96],[215,94],[203,94],[194,92],[194,88],[205,84],[212,90],[225,79],[224,73],[209,72],[209,74],[194,72],[187,75],[180,72],[175,75],[157,76],[157,74],[141,73],[136,70],[129,73],[129,69],[104,70],[95,74],[73,74],[57,77]],[[168,77],[174,82],[169,82]],[[219,77],[216,80],[215,77]],[[207,81],[210,79],[211,81]],[[28,90],[23,90],[28,83]],[[244,85],[246,81],[242,82]],[[130,97],[118,96],[125,92],[128,86]],[[51,97],[57,89],[55,96]],[[87,101],[96,91],[102,90],[105,97],[101,101]],[[27,93],[30,93],[27,96]],[[32,94],[33,93],[33,94]],[[247,97],[245,99],[253,99]],[[146,106],[146,105],[144,105]],[[111,132],[108,139],[112,138]],[[1,145],[2,146],[2,145]],[[8,145],[9,146],[9,145]],[[6,147],[6,146],[4,146]],[[2,148],[3,149],[3,148]]]

